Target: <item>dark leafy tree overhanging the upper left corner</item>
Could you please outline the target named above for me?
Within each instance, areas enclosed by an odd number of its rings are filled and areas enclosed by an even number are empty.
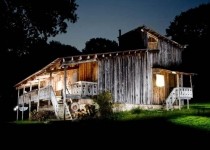
[[[75,0],[0,0],[1,53],[26,54],[31,44],[65,33],[75,23]]]

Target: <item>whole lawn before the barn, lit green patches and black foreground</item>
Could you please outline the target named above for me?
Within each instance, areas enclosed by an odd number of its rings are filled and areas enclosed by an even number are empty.
[[[131,143],[134,143],[134,147],[138,144],[167,147],[165,144],[169,143],[171,147],[182,145],[183,148],[184,145],[189,148],[189,145],[193,145],[202,149],[209,145],[209,129],[210,104],[206,103],[191,104],[190,109],[173,111],[133,109],[115,113],[114,120],[18,121],[7,124],[1,134],[4,133],[9,140],[11,135],[27,135],[30,138],[26,139],[30,142],[37,140],[37,137],[39,141],[56,137],[60,142],[66,140],[66,143],[90,140],[103,147],[108,143],[117,146],[132,146]]]

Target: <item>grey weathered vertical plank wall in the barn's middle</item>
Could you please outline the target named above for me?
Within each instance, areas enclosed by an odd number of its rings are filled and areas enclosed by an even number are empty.
[[[114,102],[151,104],[152,64],[148,61],[151,58],[151,54],[141,52],[100,59],[99,92],[110,91]]]

